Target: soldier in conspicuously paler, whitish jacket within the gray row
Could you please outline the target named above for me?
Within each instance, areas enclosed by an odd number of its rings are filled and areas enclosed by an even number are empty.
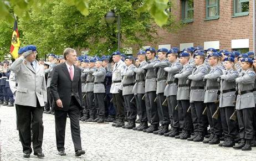
[[[122,97],[122,88],[121,83],[121,72],[125,68],[124,61],[121,60],[121,53],[119,51],[115,51],[112,53],[112,59],[114,61],[114,67],[112,70],[112,84],[110,87],[110,93],[112,94],[112,100],[114,106],[116,108],[116,117],[117,122],[113,123],[112,126],[122,127],[125,125],[125,107],[124,107],[124,98]]]

